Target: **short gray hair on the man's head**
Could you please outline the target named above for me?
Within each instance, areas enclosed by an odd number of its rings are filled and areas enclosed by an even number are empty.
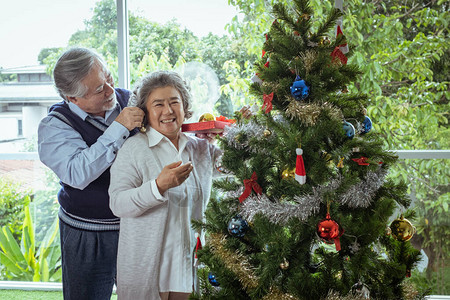
[[[86,95],[88,88],[81,81],[94,65],[107,71],[102,57],[87,48],[71,48],[59,57],[53,70],[53,78],[57,92],[66,102],[67,97]]]

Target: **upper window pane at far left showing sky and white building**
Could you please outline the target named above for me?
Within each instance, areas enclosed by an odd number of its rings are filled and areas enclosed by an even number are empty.
[[[96,0],[8,1],[0,10],[0,152],[36,151],[25,145],[39,121],[60,101],[44,63],[54,63],[60,49],[89,35],[86,21]],[[108,2],[108,1],[107,1]],[[115,2],[111,1],[115,8]],[[7,45],[7,46],[6,46]],[[46,57],[47,60],[46,60]],[[9,143],[6,143],[8,141]],[[27,149],[24,149],[27,148]]]

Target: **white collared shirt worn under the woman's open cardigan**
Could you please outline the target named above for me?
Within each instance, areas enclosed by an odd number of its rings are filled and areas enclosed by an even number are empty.
[[[189,151],[185,151],[187,137],[180,135],[178,150],[173,143],[150,128],[149,147],[157,157],[160,167],[182,161],[191,162]],[[194,199],[202,198],[202,191],[195,172],[191,173],[180,186],[167,190],[161,195],[152,180],[152,192],[159,200],[168,200],[168,216],[161,253],[159,291],[191,291],[193,284],[193,265],[191,248],[195,246],[194,231],[191,229]]]

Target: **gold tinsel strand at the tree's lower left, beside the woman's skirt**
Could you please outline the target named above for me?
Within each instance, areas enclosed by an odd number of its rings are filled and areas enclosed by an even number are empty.
[[[246,289],[254,289],[258,286],[258,278],[253,273],[250,264],[238,251],[227,250],[224,245],[226,238],[221,234],[211,234],[208,240],[209,246],[215,255],[219,256],[225,267],[232,270]]]

